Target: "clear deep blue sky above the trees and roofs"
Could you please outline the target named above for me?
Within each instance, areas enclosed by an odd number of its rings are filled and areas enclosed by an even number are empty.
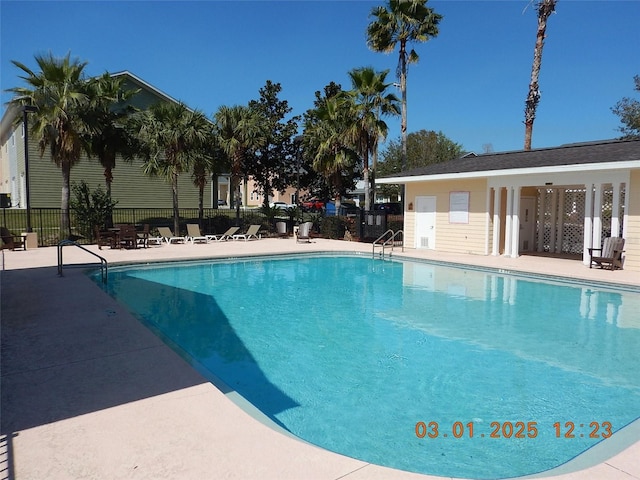
[[[129,70],[212,116],[221,105],[282,85],[293,114],[313,106],[331,81],[372,66],[395,80],[397,51],[366,46],[380,1],[0,1],[1,113],[7,88],[21,85],[11,60],[35,68],[34,54],[89,62],[87,73]],[[466,150],[518,150],[531,75],[536,14],[528,0],[430,0],[442,14],[438,37],[414,45],[408,130],[442,131]],[[611,107],[634,96],[640,74],[640,1],[559,0],[548,23],[533,147],[619,136]],[[398,92],[399,94],[399,92]],[[637,98],[637,95],[636,95]],[[389,137],[400,119],[387,119]]]

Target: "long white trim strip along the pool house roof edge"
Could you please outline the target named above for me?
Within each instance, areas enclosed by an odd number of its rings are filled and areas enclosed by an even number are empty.
[[[408,177],[376,178],[377,184],[435,182],[437,180],[459,180],[463,178],[505,177],[509,175],[553,174],[565,172],[590,172],[594,170],[625,170],[640,168],[640,160],[626,162],[577,163],[533,168],[513,168],[509,170],[483,170],[479,172],[441,173],[436,175],[414,175]]]

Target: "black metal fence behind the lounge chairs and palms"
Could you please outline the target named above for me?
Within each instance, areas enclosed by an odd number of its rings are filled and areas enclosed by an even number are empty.
[[[7,227],[13,233],[26,232],[27,215],[21,209],[2,209],[0,225]],[[62,239],[60,235],[59,208],[32,208],[31,228],[38,234],[38,245],[54,246]],[[312,221],[314,231],[318,235],[328,238],[344,238],[348,230],[354,240],[372,242],[383,234],[388,228],[402,229],[402,215],[389,215],[381,211],[359,210],[348,216],[325,217],[322,213],[305,212],[298,218],[282,212],[276,217],[266,216],[260,209],[241,209],[239,218],[234,209],[204,209],[202,222],[199,222],[197,208],[180,209],[180,231],[177,235],[186,233],[188,223],[199,223],[203,234],[216,234],[226,231],[230,226],[237,225],[245,228],[251,224],[260,224],[265,232],[275,232],[275,223],[287,222],[289,232],[293,232],[293,226],[300,221]],[[79,226],[81,222],[71,212],[71,233],[74,240],[80,243],[92,243],[92,232],[83,231]],[[142,227],[149,224],[153,232],[157,227],[170,227],[173,229],[172,208],[116,208],[113,210],[114,224],[133,224]]]

